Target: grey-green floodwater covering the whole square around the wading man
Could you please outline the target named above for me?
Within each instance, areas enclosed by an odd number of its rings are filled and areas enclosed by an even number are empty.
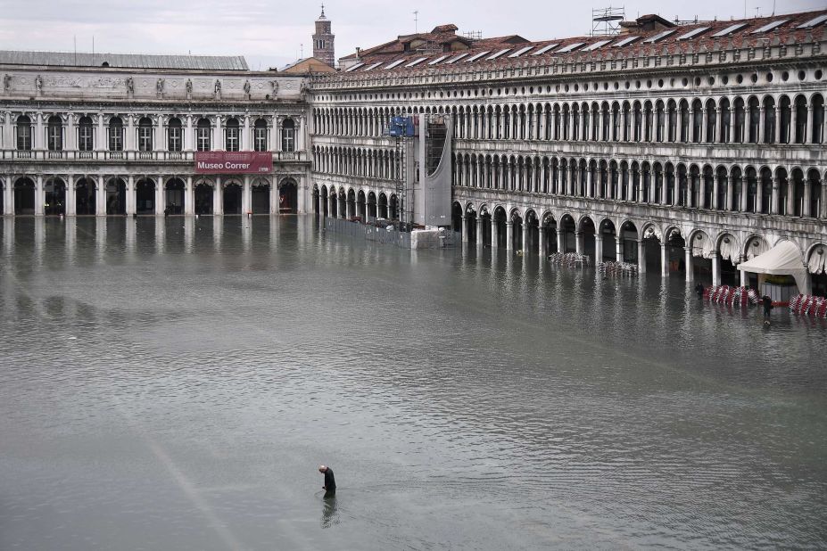
[[[4,550],[827,546],[823,322],[310,217],[0,230]]]

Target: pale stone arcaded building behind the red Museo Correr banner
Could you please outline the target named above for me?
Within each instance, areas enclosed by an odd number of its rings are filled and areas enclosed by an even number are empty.
[[[305,211],[301,76],[243,58],[0,53],[4,214]],[[196,174],[197,151],[272,152],[265,175]]]

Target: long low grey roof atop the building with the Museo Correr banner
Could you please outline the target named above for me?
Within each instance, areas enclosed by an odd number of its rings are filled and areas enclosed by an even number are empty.
[[[0,64],[121,69],[250,70],[241,55],[151,55],[147,53],[18,52],[0,50]]]

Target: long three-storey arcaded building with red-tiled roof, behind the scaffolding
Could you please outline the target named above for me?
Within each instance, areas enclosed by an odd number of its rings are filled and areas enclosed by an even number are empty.
[[[396,114],[451,118],[454,226],[688,279],[785,240],[825,286],[824,12],[617,37],[469,41],[443,25],[348,56],[310,86],[318,211],[385,214]],[[806,290],[805,290],[806,291]]]

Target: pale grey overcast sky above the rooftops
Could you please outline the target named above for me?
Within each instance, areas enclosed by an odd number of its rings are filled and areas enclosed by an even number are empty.
[[[607,2],[608,4],[608,2]],[[597,2],[571,0],[328,0],[336,57],[418,29],[454,23],[484,37],[518,34],[530,40],[571,37],[591,30]],[[827,0],[747,0],[748,16],[827,9]],[[251,69],[281,67],[312,53],[316,2],[284,0],[2,0],[0,48],[79,52],[244,55]],[[666,19],[743,17],[744,0],[639,0],[627,19],[659,13]]]

